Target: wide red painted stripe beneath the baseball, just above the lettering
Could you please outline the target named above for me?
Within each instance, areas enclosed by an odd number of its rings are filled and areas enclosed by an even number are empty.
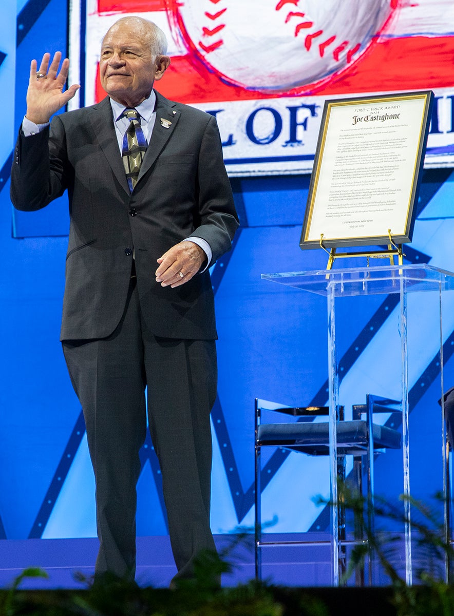
[[[331,96],[426,90],[452,87],[453,84],[454,36],[415,36],[376,43],[358,62],[339,75],[291,92],[264,94],[232,86],[189,55],[172,57],[171,66],[157,84],[157,89],[169,99],[182,103],[208,103],[299,94]],[[104,96],[98,78],[96,100]]]

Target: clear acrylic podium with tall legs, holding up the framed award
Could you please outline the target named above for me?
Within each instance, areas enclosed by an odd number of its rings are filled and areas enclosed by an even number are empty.
[[[404,543],[405,543],[405,577],[407,584],[412,583],[412,558],[411,558],[411,519],[410,519],[410,445],[409,434],[409,399],[410,386],[414,384],[415,375],[418,373],[418,346],[420,351],[428,352],[428,345],[433,347],[431,357],[434,357],[434,366],[437,370],[437,387],[439,397],[442,398],[444,391],[443,382],[443,331],[442,313],[445,302],[452,302],[454,295],[447,293],[454,290],[454,274],[431,265],[385,265],[379,267],[355,267],[352,269],[320,270],[311,272],[287,272],[282,274],[262,274],[262,278],[275,283],[286,285],[302,291],[309,291],[326,296],[328,309],[328,383],[329,383],[329,406],[330,406],[330,493],[331,502],[335,505],[331,508],[331,559],[332,559],[332,582],[339,583],[339,534],[338,534],[338,485],[337,485],[337,456],[336,452],[336,408],[343,404],[339,400],[339,351],[338,331],[342,323],[336,322],[339,301],[342,298],[360,298],[361,296],[392,295],[395,298],[393,318],[395,338],[394,354],[390,352],[389,363],[394,362],[392,373],[396,375],[396,384],[391,397],[402,400],[402,493],[404,498]],[[355,300],[354,300],[355,301]],[[359,299],[356,300],[359,302]],[[391,314],[390,314],[391,317]],[[430,330],[429,321],[432,324],[432,333],[426,341],[424,333]],[[302,324],[304,326],[304,324]],[[338,331],[336,331],[336,328]],[[409,331],[413,328],[415,335],[409,339]],[[391,328],[392,329],[392,328]],[[411,332],[410,332],[411,333]],[[422,336],[422,337],[421,337]],[[391,336],[384,336],[391,338]],[[435,338],[435,339],[434,339]],[[386,344],[391,343],[387,340]],[[421,346],[421,345],[424,345]],[[430,352],[430,349],[429,349]],[[412,365],[415,359],[416,366]],[[383,367],[378,367],[378,370]],[[438,389],[437,389],[438,391]],[[390,394],[388,394],[390,395]],[[443,493],[447,495],[447,447],[444,421],[444,406],[440,415],[440,448],[442,461],[442,485]],[[448,498],[444,502],[444,522],[447,539],[450,538],[449,503]],[[445,563],[445,574],[448,579],[448,562]]]

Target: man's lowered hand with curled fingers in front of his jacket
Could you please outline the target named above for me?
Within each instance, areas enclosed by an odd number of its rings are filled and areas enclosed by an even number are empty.
[[[184,285],[200,271],[205,261],[206,254],[200,246],[193,241],[180,241],[158,259],[156,282],[172,289]]]

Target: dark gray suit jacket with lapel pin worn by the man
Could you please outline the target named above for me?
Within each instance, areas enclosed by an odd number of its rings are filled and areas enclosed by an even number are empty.
[[[132,195],[108,98],[55,116],[50,133],[18,137],[14,206],[40,209],[68,190],[62,340],[104,338],[115,329],[128,293],[132,248],[150,330],[166,338],[216,338],[208,270],[175,289],[156,283],[154,272],[156,259],[191,235],[208,241],[211,264],[231,247],[238,220],[219,131],[213,116],[158,92],[156,97],[155,127]],[[171,122],[169,128],[161,118]]]

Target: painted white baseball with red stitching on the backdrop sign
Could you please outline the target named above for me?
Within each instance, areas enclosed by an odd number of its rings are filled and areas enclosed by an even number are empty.
[[[182,0],[169,21],[184,46],[229,83],[282,92],[350,65],[395,0]]]

